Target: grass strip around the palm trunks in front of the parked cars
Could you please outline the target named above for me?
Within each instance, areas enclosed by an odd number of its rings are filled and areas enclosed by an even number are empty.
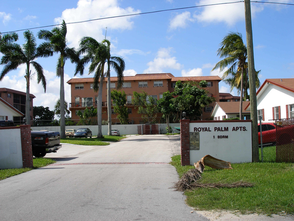
[[[61,138],[61,143],[70,143],[78,145],[109,145],[109,142],[117,142],[126,138],[125,136],[104,136],[104,138]]]

